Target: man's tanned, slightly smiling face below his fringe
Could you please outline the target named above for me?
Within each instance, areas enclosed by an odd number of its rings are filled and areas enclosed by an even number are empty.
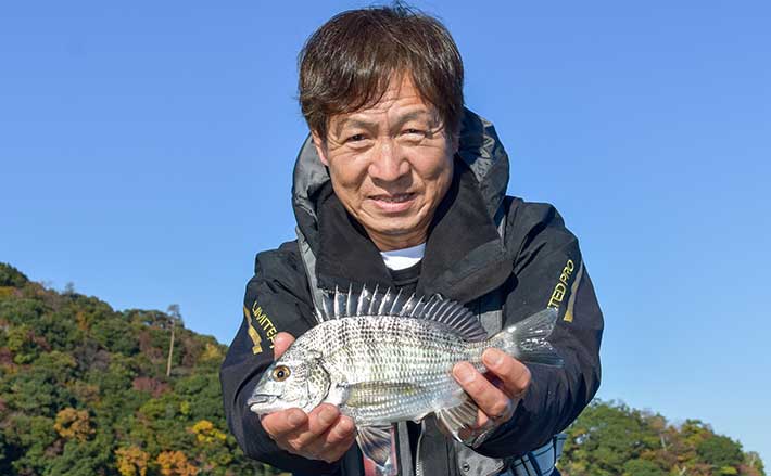
[[[336,195],[380,250],[426,241],[457,150],[409,75],[397,79],[374,106],[332,116],[326,141],[314,133]]]

